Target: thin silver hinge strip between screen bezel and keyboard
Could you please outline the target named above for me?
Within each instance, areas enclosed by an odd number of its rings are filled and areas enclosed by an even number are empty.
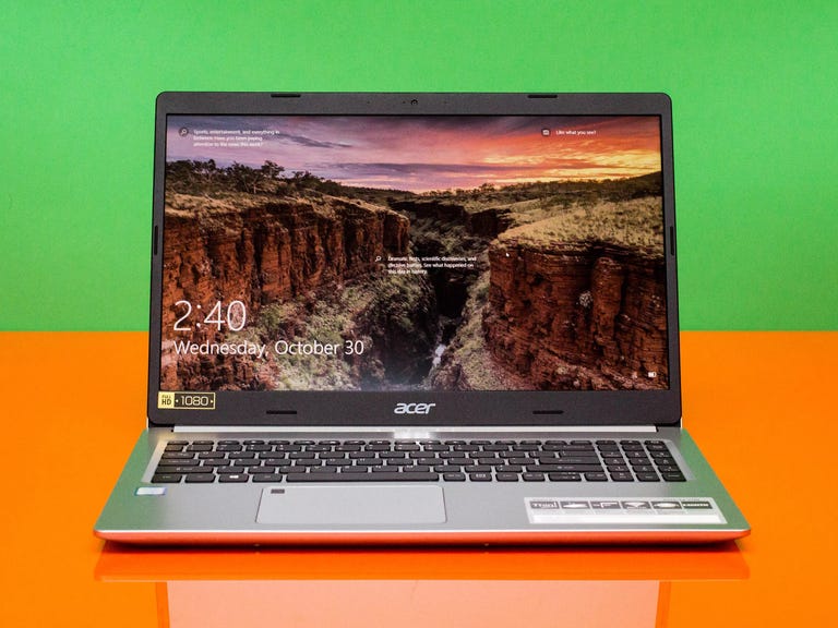
[[[428,425],[417,425],[417,426],[396,426],[391,425],[390,427],[385,427],[382,425],[354,425],[354,426],[346,426],[346,425],[240,425],[240,426],[234,426],[234,425],[176,425],[172,428],[172,432],[181,433],[181,434],[188,434],[188,433],[206,433],[206,432],[216,432],[216,433],[256,433],[256,432],[311,432],[311,433],[335,433],[335,432],[347,432],[347,433],[357,433],[357,432],[385,432],[387,434],[396,434],[397,436],[404,435],[405,438],[415,437],[415,438],[421,438],[422,434],[445,434],[445,433],[463,433],[463,432],[482,432],[482,433],[511,433],[511,432],[520,432],[520,433],[570,433],[570,434],[576,434],[576,433],[583,433],[583,432],[595,432],[595,433],[607,433],[607,432],[620,432],[621,434],[648,434],[648,433],[655,433],[657,432],[657,427],[655,425],[562,425],[562,426],[547,426],[547,425],[527,425],[527,426],[519,426],[519,425],[504,425],[504,426],[482,426],[482,425],[463,425],[459,427],[452,427],[452,426],[445,426],[445,427],[434,427],[434,426],[428,426]]]

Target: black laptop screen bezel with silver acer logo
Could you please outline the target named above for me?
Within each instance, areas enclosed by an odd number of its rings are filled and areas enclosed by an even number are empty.
[[[151,426],[514,428],[680,424],[672,119],[671,101],[666,94],[163,93],[157,98],[156,109],[148,369]],[[215,409],[211,411],[159,408],[167,118],[203,114],[657,116],[661,131],[669,388],[614,391],[219,391]],[[396,413],[397,404],[403,404],[402,410],[407,406],[412,411]]]

